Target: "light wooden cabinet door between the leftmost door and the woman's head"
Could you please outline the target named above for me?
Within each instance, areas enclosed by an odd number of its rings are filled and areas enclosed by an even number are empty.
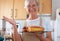
[[[15,19],[26,19],[26,11],[24,9],[25,0],[14,0]]]

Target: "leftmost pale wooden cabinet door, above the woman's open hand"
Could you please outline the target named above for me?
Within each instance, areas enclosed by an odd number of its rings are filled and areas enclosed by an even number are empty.
[[[12,6],[13,1],[12,0],[0,0],[0,18],[3,19],[3,16],[11,17],[12,15]]]

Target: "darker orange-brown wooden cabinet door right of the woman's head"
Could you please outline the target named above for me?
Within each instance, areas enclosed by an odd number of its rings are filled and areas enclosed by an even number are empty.
[[[51,14],[52,13],[52,0],[39,0],[40,13]]]

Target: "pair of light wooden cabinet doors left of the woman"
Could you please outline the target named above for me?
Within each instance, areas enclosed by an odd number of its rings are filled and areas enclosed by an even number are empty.
[[[24,0],[0,0],[0,18],[26,19]]]

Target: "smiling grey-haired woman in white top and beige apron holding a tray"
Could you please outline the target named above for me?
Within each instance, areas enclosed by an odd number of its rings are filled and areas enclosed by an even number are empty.
[[[26,26],[41,26],[40,25],[40,17],[38,17],[37,13],[39,13],[39,4],[38,0],[25,0],[25,7],[26,12],[28,13],[29,17],[26,20]],[[14,19],[9,19],[4,16],[4,19],[11,23],[14,28],[14,41],[52,41],[51,32],[46,32],[38,34],[38,33],[22,33],[22,36],[17,32],[17,26]],[[43,20],[43,19],[42,19]],[[46,22],[47,23],[47,22]],[[49,25],[49,24],[48,24]],[[42,25],[46,29],[46,25]],[[49,30],[48,27],[47,30]],[[46,36],[46,37],[45,37]]]

